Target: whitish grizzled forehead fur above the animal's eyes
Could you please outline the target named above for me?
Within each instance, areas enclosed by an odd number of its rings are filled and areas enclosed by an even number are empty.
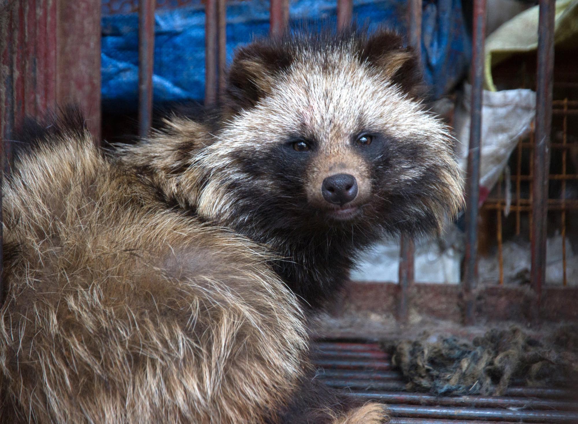
[[[240,137],[266,144],[303,136],[325,147],[347,143],[362,131],[398,138],[445,136],[439,121],[379,69],[361,62],[351,46],[295,51],[292,64],[276,75],[271,92],[225,131],[231,142]]]

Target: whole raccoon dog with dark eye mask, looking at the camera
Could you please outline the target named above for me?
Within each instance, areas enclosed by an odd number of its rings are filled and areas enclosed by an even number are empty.
[[[371,243],[460,207],[419,84],[388,31],[258,40],[210,118],[108,152],[72,113],[24,137],[3,184],[0,421],[386,421],[317,383],[305,322]]]

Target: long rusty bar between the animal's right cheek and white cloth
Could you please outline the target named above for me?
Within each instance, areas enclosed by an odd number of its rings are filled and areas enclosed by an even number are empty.
[[[474,291],[477,286],[477,218],[480,198],[481,102],[483,98],[484,42],[486,38],[486,0],[475,0],[473,3],[472,34],[472,65],[470,69],[472,102],[470,105],[471,123],[468,169],[466,173],[466,246],[462,282],[466,324],[474,322]]]

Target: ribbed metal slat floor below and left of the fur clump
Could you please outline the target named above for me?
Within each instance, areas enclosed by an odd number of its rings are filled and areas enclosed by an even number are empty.
[[[325,384],[387,404],[392,424],[578,424],[575,389],[514,384],[503,396],[431,396],[405,391],[376,340],[318,340],[313,348]]]

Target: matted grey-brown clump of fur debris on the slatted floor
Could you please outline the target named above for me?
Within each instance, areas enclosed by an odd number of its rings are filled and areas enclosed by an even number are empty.
[[[402,341],[389,345],[408,390],[435,395],[502,395],[512,379],[531,385],[578,377],[578,328],[561,328],[542,341],[519,328],[489,330],[483,337]],[[386,345],[387,348],[387,345]]]

